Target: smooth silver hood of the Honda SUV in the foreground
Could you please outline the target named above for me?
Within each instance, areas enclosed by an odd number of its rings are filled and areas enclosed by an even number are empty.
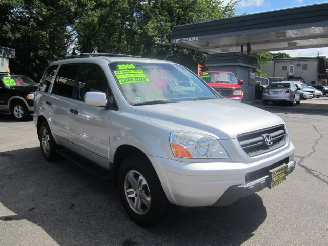
[[[172,130],[196,131],[219,139],[284,124],[277,115],[226,98],[135,106],[135,110],[138,116]]]

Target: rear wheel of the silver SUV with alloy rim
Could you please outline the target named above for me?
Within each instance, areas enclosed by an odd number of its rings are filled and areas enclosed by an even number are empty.
[[[57,149],[58,146],[53,139],[51,134],[50,128],[47,122],[42,122],[39,127],[39,140],[40,140],[40,147],[43,156],[46,160],[54,161],[57,159]]]

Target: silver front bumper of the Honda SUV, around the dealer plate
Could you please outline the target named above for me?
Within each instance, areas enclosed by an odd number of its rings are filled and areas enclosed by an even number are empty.
[[[294,149],[294,145],[290,142],[287,148],[277,149],[274,155],[252,163],[191,163],[156,156],[148,156],[148,158],[172,204],[187,207],[222,206],[267,187],[265,180],[268,179],[268,173],[248,182],[246,177],[249,173],[267,168],[282,160],[286,160],[284,163],[288,163],[288,170],[292,171],[295,167]],[[238,189],[231,187],[238,187]],[[229,188],[231,189],[227,191]],[[227,198],[222,198],[223,200],[220,201],[223,195]]]

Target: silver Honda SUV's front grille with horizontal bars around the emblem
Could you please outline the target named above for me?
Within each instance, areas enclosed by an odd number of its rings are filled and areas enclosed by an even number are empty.
[[[272,144],[268,145],[263,137],[269,134]],[[286,143],[286,131],[283,125],[265,128],[254,132],[237,135],[241,148],[249,155],[255,156],[275,150]]]

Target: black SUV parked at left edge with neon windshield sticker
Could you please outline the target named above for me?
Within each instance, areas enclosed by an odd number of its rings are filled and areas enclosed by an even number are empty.
[[[16,120],[25,120],[33,113],[37,84],[28,76],[0,74],[0,112],[11,113]]]

